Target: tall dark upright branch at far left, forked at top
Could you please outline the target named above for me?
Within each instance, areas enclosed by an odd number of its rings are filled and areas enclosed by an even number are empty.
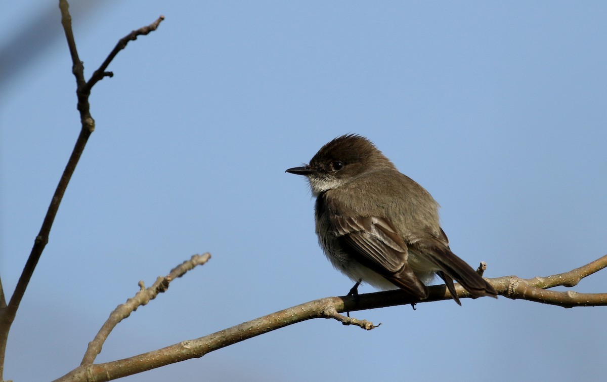
[[[95,130],[95,120],[93,120],[92,116],[90,115],[90,90],[95,83],[101,80],[101,78],[104,76],[108,75],[107,72],[105,72],[107,66],[114,59],[117,53],[126,46],[128,41],[136,39],[138,35],[147,35],[152,30],[157,29],[158,24],[160,24],[160,22],[164,19],[163,16],[160,16],[160,18],[158,18],[150,26],[134,30],[123,39],[120,39],[114,50],[112,50],[103,64],[101,64],[100,69],[96,70],[95,73],[93,73],[93,76],[87,82],[84,79],[83,63],[80,61],[80,57],[78,56],[78,50],[76,50],[76,42],[72,32],[72,16],[70,16],[69,4],[66,0],[59,0],[59,9],[61,9],[61,24],[63,25],[64,32],[66,33],[67,45],[70,50],[70,55],[72,56],[72,72],[76,77],[76,95],[78,97],[78,111],[80,112],[82,128],[73,148],[72,155],[70,155],[66,168],[61,175],[61,179],[59,179],[59,183],[55,189],[55,194],[53,194],[51,199],[46,216],[44,216],[42,227],[40,228],[38,236],[36,236],[36,239],[34,240],[30,256],[27,259],[27,262],[25,262],[25,267],[21,273],[21,276],[19,277],[17,285],[15,286],[15,292],[13,292],[8,304],[5,304],[4,292],[0,285],[0,381],[3,380],[4,357],[8,332],[13,321],[15,320],[19,304],[21,303],[21,299],[25,294],[27,285],[32,278],[36,264],[38,264],[42,251],[44,251],[44,247],[46,247],[46,244],[49,242],[50,229],[53,225],[53,221],[55,220],[61,200],[66,192],[67,185],[72,178],[72,174],[76,169],[76,165],[78,164],[78,160],[80,160],[80,156],[84,151],[84,146],[86,146],[90,134]]]

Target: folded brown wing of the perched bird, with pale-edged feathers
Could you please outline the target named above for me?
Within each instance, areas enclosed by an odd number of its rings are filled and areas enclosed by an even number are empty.
[[[331,216],[342,248],[361,264],[419,299],[426,286],[407,264],[407,245],[388,220],[381,217]]]

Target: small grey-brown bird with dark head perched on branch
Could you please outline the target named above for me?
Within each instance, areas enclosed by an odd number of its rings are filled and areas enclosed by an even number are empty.
[[[335,138],[309,165],[287,170],[304,175],[316,197],[316,234],[331,264],[356,282],[382,290],[401,288],[420,300],[438,275],[459,305],[453,279],[473,297],[497,292],[449,249],[439,225],[438,203],[398,172],[360,135]]]

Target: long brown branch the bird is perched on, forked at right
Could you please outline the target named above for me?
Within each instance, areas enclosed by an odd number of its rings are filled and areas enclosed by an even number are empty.
[[[552,288],[557,285],[573,286],[578,281],[607,267],[607,255],[591,262],[588,265],[561,273],[560,275],[544,278],[520,279],[516,276],[505,276],[496,279],[487,279],[498,294],[508,298],[527,299],[529,301],[543,302],[545,304],[560,305],[563,307],[607,305],[607,293],[576,293],[554,292],[543,288]],[[538,291],[543,292],[542,295]],[[461,285],[456,285],[458,297],[469,298],[470,294]],[[281,327],[296,324],[312,318],[333,318],[344,325],[359,326],[371,330],[375,326],[372,322],[350,318],[339,313],[355,312],[358,310],[388,307],[393,305],[416,304],[422,302],[451,299],[445,285],[429,287],[429,297],[418,301],[400,290],[390,292],[367,293],[358,296],[328,297],[296,305],[267,316],[243,322],[237,326],[221,330],[204,337],[181,341],[163,349],[135,355],[124,360],[112,361],[102,364],[87,364],[67,373],[56,382],[66,381],[110,381],[126,377],[134,373],[155,369],[171,363],[200,358],[203,355],[222,347],[271,332]]]

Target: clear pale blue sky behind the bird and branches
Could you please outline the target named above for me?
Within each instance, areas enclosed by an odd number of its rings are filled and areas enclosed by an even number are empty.
[[[317,245],[307,184],[284,171],[348,132],[432,193],[453,251],[486,261],[487,277],[552,275],[607,253],[604,2],[84,4],[73,18],[87,78],[119,38],[166,20],[93,89],[97,129],[13,324],[6,378],[76,367],[139,280],[151,285],[193,253],[213,258],[122,322],[98,361],[347,293],[352,283]],[[0,274],[10,294],[80,119],[59,10],[2,8]],[[607,292],[607,273],[574,289]],[[316,319],[124,380],[607,373],[603,307],[500,297],[354,315],[382,326]]]

